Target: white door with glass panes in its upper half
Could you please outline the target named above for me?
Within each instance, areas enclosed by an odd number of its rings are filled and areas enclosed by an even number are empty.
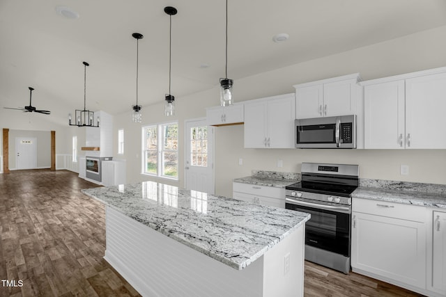
[[[214,194],[214,127],[206,119],[188,120],[185,129],[186,188]]]

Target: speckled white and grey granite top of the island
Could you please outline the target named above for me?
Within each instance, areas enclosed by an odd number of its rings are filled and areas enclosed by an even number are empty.
[[[238,270],[309,220],[309,214],[299,211],[155,182],[89,188],[82,193]]]

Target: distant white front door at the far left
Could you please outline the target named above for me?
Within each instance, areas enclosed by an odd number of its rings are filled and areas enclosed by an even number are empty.
[[[37,138],[15,138],[15,152],[17,170],[37,168]]]

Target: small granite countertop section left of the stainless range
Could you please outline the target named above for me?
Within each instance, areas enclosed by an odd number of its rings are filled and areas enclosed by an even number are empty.
[[[274,172],[253,170],[249,177],[239,177],[233,179],[233,182],[242,184],[255,184],[257,186],[273,186],[276,188],[284,188],[300,181],[299,173]]]

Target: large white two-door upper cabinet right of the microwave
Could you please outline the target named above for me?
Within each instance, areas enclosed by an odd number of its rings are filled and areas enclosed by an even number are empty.
[[[446,67],[362,85],[364,148],[446,148]]]

